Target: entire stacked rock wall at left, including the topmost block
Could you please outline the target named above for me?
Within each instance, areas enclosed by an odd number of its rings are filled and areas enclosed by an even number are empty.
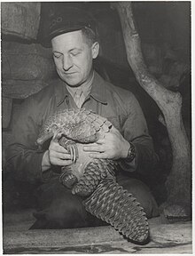
[[[48,84],[55,76],[55,68],[50,49],[33,44],[40,24],[41,3],[1,3],[1,18],[4,166],[4,148],[11,138],[12,116],[20,110],[22,100]]]

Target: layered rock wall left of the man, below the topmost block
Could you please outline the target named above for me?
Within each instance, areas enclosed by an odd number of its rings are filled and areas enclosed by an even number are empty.
[[[20,102],[47,86],[56,72],[51,49],[40,44],[3,42],[2,63],[4,152],[12,129],[12,116],[20,110]]]

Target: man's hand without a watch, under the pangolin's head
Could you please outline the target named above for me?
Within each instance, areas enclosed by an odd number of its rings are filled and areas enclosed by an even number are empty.
[[[65,166],[73,164],[70,154],[58,142],[51,140],[49,149],[44,153],[42,160],[42,171],[51,168],[51,164]]]

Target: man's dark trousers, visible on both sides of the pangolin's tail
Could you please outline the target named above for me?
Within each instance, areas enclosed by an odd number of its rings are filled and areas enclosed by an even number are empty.
[[[141,180],[119,175],[117,182],[136,197],[148,219],[159,215],[158,205],[150,189]],[[87,212],[82,205],[82,197],[73,195],[70,189],[59,183],[58,177],[43,184],[35,194],[36,221],[30,229],[86,228],[107,225],[105,221]]]

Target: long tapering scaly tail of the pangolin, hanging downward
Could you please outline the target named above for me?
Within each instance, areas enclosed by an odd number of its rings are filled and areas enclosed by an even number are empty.
[[[137,244],[148,242],[149,225],[143,208],[115,180],[101,180],[83,204],[88,212],[111,224],[130,241]]]

